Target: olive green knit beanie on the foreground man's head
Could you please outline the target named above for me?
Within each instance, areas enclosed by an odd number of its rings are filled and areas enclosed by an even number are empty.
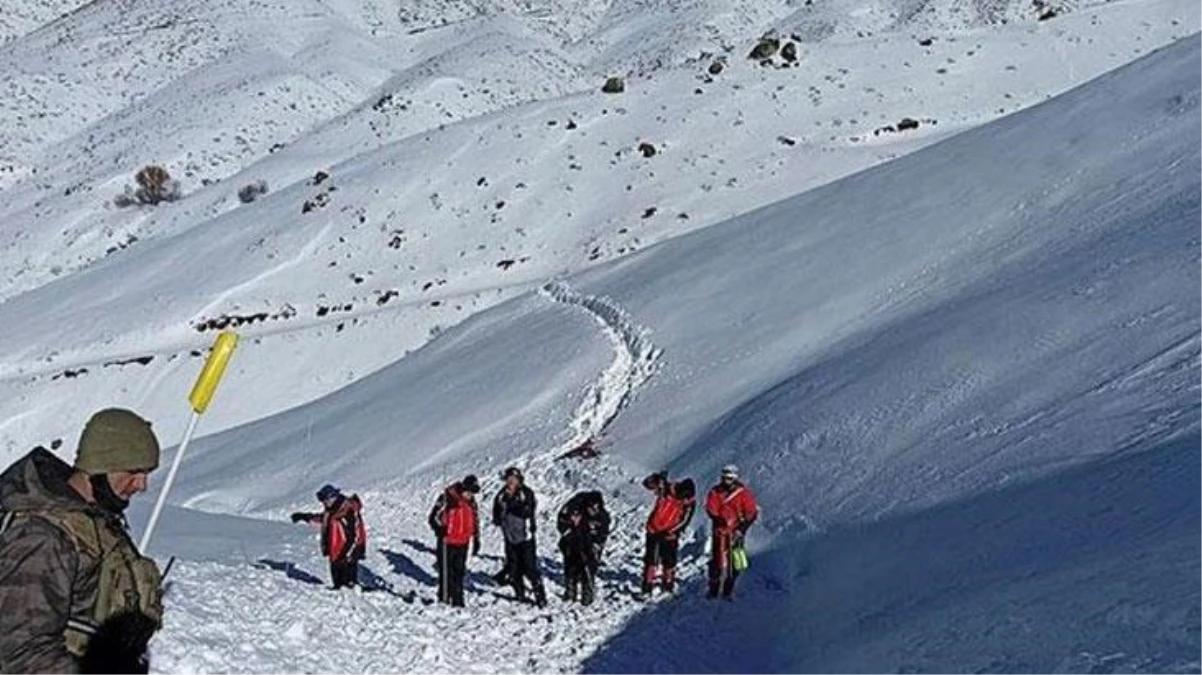
[[[127,410],[109,408],[91,416],[79,436],[76,468],[93,476],[114,471],[154,471],[159,438],[150,423]]]

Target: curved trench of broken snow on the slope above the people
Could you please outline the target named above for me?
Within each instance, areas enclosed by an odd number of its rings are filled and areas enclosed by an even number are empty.
[[[585,295],[563,281],[547,283],[540,294],[588,312],[601,324],[613,345],[614,360],[587,392],[571,422],[572,436],[555,456],[596,441],[633,400],[638,389],[660,369],[664,350],[650,339],[650,329],[635,323],[618,303],[600,295]]]

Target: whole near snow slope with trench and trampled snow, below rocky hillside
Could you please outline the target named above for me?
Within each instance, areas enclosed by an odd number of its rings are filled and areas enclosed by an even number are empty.
[[[304,583],[313,552],[240,542],[180,567],[160,668],[232,668],[236,645],[248,670],[282,655],[304,670],[1195,668],[1200,67],[1194,37],[203,440],[177,503],[272,518],[322,480],[359,486],[387,591],[332,601]],[[609,418],[602,459],[552,459],[581,420]],[[638,613],[621,592],[647,506],[633,479],[731,460],[764,508],[742,601]],[[543,615],[487,591],[466,616],[422,604],[423,507],[511,462],[548,506],[606,490],[621,525],[603,608]],[[688,550],[692,584],[701,532]],[[232,574],[246,583],[230,609],[212,597]],[[311,619],[331,603],[338,626]],[[337,647],[298,646],[314,639]]]

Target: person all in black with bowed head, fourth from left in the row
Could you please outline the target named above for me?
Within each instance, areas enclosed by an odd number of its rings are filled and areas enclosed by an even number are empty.
[[[597,568],[612,522],[601,492],[579,492],[559,509],[559,551],[564,554],[564,599],[593,604]]]

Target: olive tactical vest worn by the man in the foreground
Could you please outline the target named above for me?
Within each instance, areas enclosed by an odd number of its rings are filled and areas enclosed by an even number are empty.
[[[0,533],[17,518],[40,518],[66,533],[81,556],[99,561],[96,603],[87,619],[73,615],[64,631],[67,651],[83,656],[101,625],[113,616],[139,611],[162,625],[162,575],[159,566],[138,554],[127,532],[101,524],[81,510],[8,512]],[[87,611],[87,608],[84,608]],[[72,608],[72,614],[77,608]]]

